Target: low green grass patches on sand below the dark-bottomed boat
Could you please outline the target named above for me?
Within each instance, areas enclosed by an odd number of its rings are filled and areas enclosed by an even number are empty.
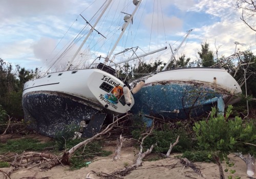
[[[74,145],[81,142],[83,139],[79,140],[67,140],[66,146],[68,148],[73,147]],[[78,149],[73,156],[70,158],[70,169],[80,169],[82,167],[87,167],[90,162],[95,158],[95,156],[109,156],[112,154],[111,151],[103,150],[103,142],[94,141],[87,144],[85,147]],[[57,141],[51,141],[47,143],[40,143],[40,141],[35,139],[13,139],[8,140],[6,143],[0,143],[0,154],[7,152],[22,153],[23,151],[43,151],[45,147],[55,146],[57,149],[59,143]],[[53,151],[54,153],[60,152]],[[0,161],[0,168],[9,167],[10,164],[5,161]]]

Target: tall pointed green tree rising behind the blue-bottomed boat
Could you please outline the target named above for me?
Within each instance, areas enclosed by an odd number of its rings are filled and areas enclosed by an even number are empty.
[[[201,43],[201,48],[201,52],[198,52],[198,55],[202,60],[202,66],[207,67],[214,65],[214,53],[209,50],[209,43],[206,41]]]

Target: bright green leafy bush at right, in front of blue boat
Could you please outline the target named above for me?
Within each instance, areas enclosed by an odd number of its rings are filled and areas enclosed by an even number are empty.
[[[196,132],[198,145],[204,150],[222,151],[241,151],[253,153],[255,148],[246,143],[256,142],[255,125],[252,122],[243,122],[240,117],[229,120],[232,106],[229,105],[225,117],[217,115],[216,108],[212,108],[208,121],[199,121],[193,126]]]

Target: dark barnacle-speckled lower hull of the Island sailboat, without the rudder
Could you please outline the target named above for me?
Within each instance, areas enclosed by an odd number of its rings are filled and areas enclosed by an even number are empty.
[[[23,108],[29,128],[50,137],[68,125],[78,127],[81,121],[89,123],[99,112],[81,99],[46,91],[25,95]]]

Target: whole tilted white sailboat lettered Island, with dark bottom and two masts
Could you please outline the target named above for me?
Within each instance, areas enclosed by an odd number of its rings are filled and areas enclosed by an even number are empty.
[[[111,2],[112,0],[108,1],[98,19]],[[23,108],[25,120],[30,122],[32,129],[54,137],[57,131],[63,130],[67,125],[78,126],[84,121],[87,125],[83,128],[82,136],[91,137],[100,130],[106,116],[113,118],[113,115],[120,116],[131,109],[134,98],[130,90],[124,81],[115,76],[115,69],[107,63],[140,3],[141,1],[133,1],[133,13],[126,15],[114,47],[105,61],[98,63],[96,68],[69,70],[83,44],[95,30],[98,20],[91,26],[90,33],[83,40],[65,71],[49,73],[25,83]]]

